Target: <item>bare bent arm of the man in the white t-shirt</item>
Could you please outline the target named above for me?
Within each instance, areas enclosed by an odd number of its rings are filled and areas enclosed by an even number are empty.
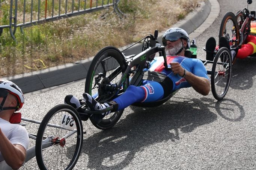
[[[9,139],[2,133],[0,128],[0,151],[6,163],[12,169],[19,169],[26,157],[26,149],[18,144],[12,144]]]

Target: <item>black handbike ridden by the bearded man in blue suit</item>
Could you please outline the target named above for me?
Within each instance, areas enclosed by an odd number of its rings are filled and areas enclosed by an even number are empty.
[[[158,31],[156,30],[154,35],[149,34],[142,38],[144,40],[143,51],[137,55],[125,56],[119,49],[112,46],[101,49],[90,64],[85,82],[85,92],[92,95],[96,101],[103,102],[111,101],[122,95],[130,85],[140,86],[145,73],[144,69],[150,67],[150,63],[154,60],[156,53],[159,53],[159,57],[163,57],[165,69],[170,69],[167,65],[165,48],[157,43],[157,36]],[[204,65],[212,64],[212,69],[207,71],[211,75],[212,93],[215,99],[223,99],[231,79],[229,50],[223,47],[216,54],[214,61],[206,60],[202,62]],[[178,90],[157,102],[134,103],[133,105],[142,107],[159,106],[170,99],[176,92]],[[90,111],[84,104],[76,109],[83,120],[90,118],[95,127],[105,130],[117,123],[123,110],[106,115],[99,123],[96,123],[90,115],[109,111],[111,107],[100,111]]]

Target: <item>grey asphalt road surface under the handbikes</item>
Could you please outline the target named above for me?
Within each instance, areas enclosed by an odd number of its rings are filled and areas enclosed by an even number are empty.
[[[246,0],[218,0],[220,14],[197,39],[198,58],[205,59],[206,40],[218,38],[221,19],[236,13]],[[249,10],[256,9],[256,2]],[[217,102],[182,89],[157,108],[128,107],[110,130],[84,121],[83,149],[75,169],[84,170],[254,170],[256,169],[256,58],[237,60],[226,97]],[[82,98],[84,80],[26,96],[23,116],[42,120],[68,94]],[[31,107],[33,106],[33,108]],[[36,133],[38,125],[27,123]],[[31,141],[33,145],[33,141]],[[35,158],[21,169],[36,169]]]

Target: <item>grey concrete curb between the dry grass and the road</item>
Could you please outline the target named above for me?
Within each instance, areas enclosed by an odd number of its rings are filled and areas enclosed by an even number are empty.
[[[206,2],[202,2],[199,8],[197,8],[194,12],[191,12],[184,20],[177,22],[175,25],[173,25],[173,27],[183,28],[188,32],[188,34],[193,33],[193,31],[199,28],[206,18],[208,18],[210,12],[212,11],[212,2],[215,3],[217,0],[207,0]],[[214,13],[219,13],[219,10]],[[163,33],[158,34],[159,42],[161,42],[162,35]],[[194,36],[196,36],[196,34]],[[191,40],[193,38],[194,37],[192,37]],[[120,50],[123,50],[126,47],[122,47]],[[136,48],[141,48],[141,44],[131,47],[132,51],[134,51]],[[126,53],[126,55],[130,54]],[[58,86],[86,78],[92,58],[77,61],[72,64],[65,64],[44,69],[42,71],[34,71],[26,74],[15,75],[13,77],[3,78],[13,81],[21,88],[23,93],[34,92],[48,87]]]

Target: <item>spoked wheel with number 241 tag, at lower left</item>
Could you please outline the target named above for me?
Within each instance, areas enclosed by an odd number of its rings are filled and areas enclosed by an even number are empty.
[[[63,123],[76,130],[65,128]],[[53,127],[51,124],[59,127]],[[66,136],[71,131],[74,133]],[[50,142],[45,143],[44,139],[50,139]],[[46,144],[49,147],[43,148]],[[43,118],[36,137],[36,161],[39,169],[73,169],[80,156],[82,144],[83,125],[78,112],[70,105],[54,106]]]

